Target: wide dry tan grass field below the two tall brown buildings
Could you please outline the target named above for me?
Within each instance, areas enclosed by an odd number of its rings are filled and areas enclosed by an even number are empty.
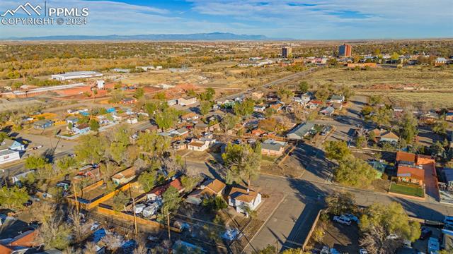
[[[453,68],[375,68],[347,71],[325,68],[306,78],[315,88],[331,84],[354,87],[357,95],[384,95],[396,105],[453,107]],[[413,90],[405,90],[413,87]]]

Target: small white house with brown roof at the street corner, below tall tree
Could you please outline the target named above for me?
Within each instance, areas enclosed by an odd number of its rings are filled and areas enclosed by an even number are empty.
[[[261,203],[261,194],[248,188],[233,187],[228,195],[228,205],[236,207],[236,212],[246,213],[243,206],[256,210]]]

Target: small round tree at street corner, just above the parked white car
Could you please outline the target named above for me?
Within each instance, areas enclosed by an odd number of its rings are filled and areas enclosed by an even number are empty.
[[[326,197],[326,204],[327,211],[336,215],[357,210],[355,197],[350,192],[334,192]]]

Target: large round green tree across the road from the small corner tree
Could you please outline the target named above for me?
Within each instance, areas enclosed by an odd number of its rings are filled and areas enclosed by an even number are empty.
[[[340,162],[333,175],[338,183],[353,187],[369,186],[376,179],[376,171],[363,159],[352,155]]]

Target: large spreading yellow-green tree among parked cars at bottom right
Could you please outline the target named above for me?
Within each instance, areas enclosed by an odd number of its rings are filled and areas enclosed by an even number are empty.
[[[420,224],[410,221],[403,206],[398,202],[391,202],[389,205],[382,203],[370,205],[360,217],[359,226],[362,232],[381,226],[385,236],[396,234],[409,241],[415,241],[420,237]]]

